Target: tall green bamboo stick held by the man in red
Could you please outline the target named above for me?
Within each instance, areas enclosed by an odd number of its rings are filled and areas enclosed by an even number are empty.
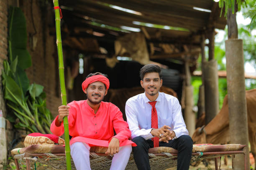
[[[53,2],[54,2],[54,7],[59,6],[58,0],[53,0]],[[61,85],[62,105],[67,105],[59,12],[60,12],[59,9],[55,10],[56,38],[57,38],[56,43],[57,43],[58,57],[59,57],[59,80]],[[64,117],[64,135],[65,135],[65,153],[66,153],[67,170],[71,170],[71,157],[70,157],[70,148],[69,148],[69,122],[68,122],[67,116]]]

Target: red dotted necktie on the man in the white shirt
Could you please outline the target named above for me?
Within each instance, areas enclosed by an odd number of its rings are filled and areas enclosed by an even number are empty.
[[[149,102],[149,104],[152,106],[151,110],[151,128],[158,129],[158,118],[157,118],[157,112],[156,112],[156,101],[154,102]],[[154,148],[159,147],[159,138],[154,137],[152,138],[154,142]]]

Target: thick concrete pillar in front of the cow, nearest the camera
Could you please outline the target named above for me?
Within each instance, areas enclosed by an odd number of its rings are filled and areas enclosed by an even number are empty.
[[[227,61],[226,67],[230,143],[248,145],[248,120],[243,66],[243,40],[226,40],[225,50]],[[248,147],[246,147],[246,150],[249,158]],[[243,170],[243,163],[243,155],[236,155],[234,158],[234,169]],[[249,167],[247,169],[249,169]]]

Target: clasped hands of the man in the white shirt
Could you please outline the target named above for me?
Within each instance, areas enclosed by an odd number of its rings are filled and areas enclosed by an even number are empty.
[[[164,125],[158,129],[152,129],[151,134],[157,138],[159,138],[159,142],[169,143],[168,140],[172,140],[176,135],[173,130],[169,130],[170,127]]]

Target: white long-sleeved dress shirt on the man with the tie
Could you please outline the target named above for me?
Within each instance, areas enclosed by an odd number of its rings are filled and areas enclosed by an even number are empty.
[[[150,100],[144,92],[129,98],[125,104],[125,114],[132,139],[137,136],[141,136],[145,140],[153,138],[150,133],[152,130],[152,106],[148,102]],[[175,138],[179,138],[181,135],[188,135],[188,130],[182,117],[181,106],[176,97],[159,92],[155,107],[158,117],[158,128],[168,125],[171,127],[170,130],[175,132]]]

